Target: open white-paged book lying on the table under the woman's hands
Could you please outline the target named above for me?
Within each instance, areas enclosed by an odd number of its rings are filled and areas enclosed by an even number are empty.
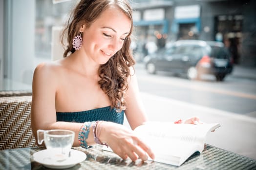
[[[193,153],[203,151],[207,134],[218,127],[219,123],[149,122],[138,126],[134,132],[150,146],[155,154],[154,161],[180,166]],[[107,147],[103,150],[111,151]]]

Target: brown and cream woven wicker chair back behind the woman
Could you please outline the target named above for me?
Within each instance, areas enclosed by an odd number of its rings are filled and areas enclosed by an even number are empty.
[[[0,97],[0,150],[36,146],[30,125],[32,96]]]

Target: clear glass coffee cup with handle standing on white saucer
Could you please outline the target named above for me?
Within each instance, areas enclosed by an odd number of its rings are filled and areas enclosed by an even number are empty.
[[[70,156],[70,150],[74,143],[75,133],[70,130],[37,130],[38,144],[44,145],[52,158],[61,161]]]

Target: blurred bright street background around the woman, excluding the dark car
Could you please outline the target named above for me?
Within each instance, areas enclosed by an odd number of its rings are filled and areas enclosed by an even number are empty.
[[[256,0],[130,1],[131,50],[149,120],[219,122],[206,142],[256,159]],[[77,2],[0,0],[0,90],[31,90],[35,67],[62,58],[59,35]],[[221,43],[230,55],[218,62],[230,62],[232,72],[222,81],[148,73],[146,56],[188,39]]]

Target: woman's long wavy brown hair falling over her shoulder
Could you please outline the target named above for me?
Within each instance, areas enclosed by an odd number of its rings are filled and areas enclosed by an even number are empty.
[[[62,44],[66,46],[64,57],[75,52],[72,46],[73,38],[80,34],[80,28],[86,23],[90,25],[110,6],[118,7],[131,21],[130,32],[121,50],[117,51],[107,63],[100,66],[98,74],[101,80],[98,82],[101,89],[107,94],[111,108],[116,108],[118,112],[126,109],[124,100],[125,92],[128,89],[128,77],[130,67],[133,68],[135,60],[130,51],[130,35],[132,33],[132,9],[127,0],[81,0],[72,11],[66,27],[62,34]],[[66,45],[65,43],[66,42]]]

